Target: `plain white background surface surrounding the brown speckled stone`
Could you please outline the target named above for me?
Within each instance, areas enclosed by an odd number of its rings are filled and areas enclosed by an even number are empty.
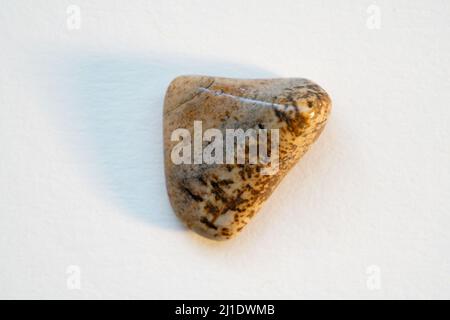
[[[1,298],[450,298],[449,1],[0,7]],[[228,242],[169,206],[181,74],[306,77],[334,102]]]

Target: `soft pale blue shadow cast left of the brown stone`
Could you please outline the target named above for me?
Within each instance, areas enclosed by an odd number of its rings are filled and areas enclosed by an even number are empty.
[[[85,159],[100,195],[121,212],[157,227],[184,230],[169,205],[164,179],[163,98],[180,74],[270,77],[261,69],[186,56],[69,53],[61,117],[67,139]],[[70,99],[67,99],[70,97]]]

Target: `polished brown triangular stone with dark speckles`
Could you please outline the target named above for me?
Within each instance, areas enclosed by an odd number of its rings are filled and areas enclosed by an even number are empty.
[[[204,237],[236,235],[317,139],[330,110],[328,94],[301,78],[173,80],[163,130],[166,186],[176,215]],[[248,133],[244,163],[239,148],[227,144],[239,129]],[[212,151],[221,137],[223,145]],[[255,146],[258,161],[250,163]]]

